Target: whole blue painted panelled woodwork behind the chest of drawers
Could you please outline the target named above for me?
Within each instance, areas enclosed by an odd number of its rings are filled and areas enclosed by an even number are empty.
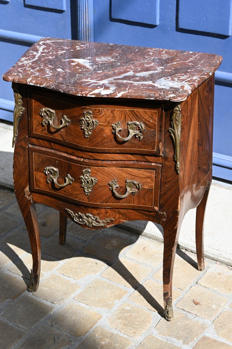
[[[44,36],[222,55],[213,174],[232,180],[232,0],[0,0],[0,18],[0,74]],[[0,118],[12,120],[13,94],[3,81],[0,108]]]

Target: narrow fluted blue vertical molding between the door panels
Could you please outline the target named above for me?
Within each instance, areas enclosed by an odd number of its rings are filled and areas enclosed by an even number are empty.
[[[93,0],[77,0],[78,6],[78,40],[94,40]]]

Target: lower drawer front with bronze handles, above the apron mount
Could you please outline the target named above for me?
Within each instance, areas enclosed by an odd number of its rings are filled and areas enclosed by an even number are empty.
[[[29,159],[31,191],[93,207],[159,208],[161,164],[104,163],[36,146]]]

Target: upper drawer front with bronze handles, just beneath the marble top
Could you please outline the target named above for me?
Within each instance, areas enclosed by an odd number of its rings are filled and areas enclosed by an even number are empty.
[[[27,91],[27,97],[32,137],[101,153],[162,155],[161,104],[104,105],[33,90]]]

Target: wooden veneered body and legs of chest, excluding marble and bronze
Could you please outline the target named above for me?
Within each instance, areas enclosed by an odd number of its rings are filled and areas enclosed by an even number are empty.
[[[186,212],[197,206],[196,248],[199,269],[203,268],[203,219],[208,196],[205,189],[212,178],[214,76],[181,103],[179,175],[175,171],[174,147],[168,132],[175,106],[173,102],[165,102],[163,107],[159,101],[115,102],[109,98],[108,104],[105,104],[106,99],[67,97],[34,87],[28,88],[26,105],[26,87],[20,88],[25,111],[18,122],[14,185],[29,232],[35,289],[38,287],[40,273],[40,240],[34,203],[42,203],[60,212],[61,244],[65,242],[67,217],[70,218],[66,209],[74,214],[90,213],[101,220],[112,218],[105,227],[133,220],[149,220],[161,224],[164,232],[163,298],[166,306],[172,297],[173,267],[181,223]],[[55,133],[51,133],[47,127],[43,128],[41,117],[38,117],[39,109],[43,106],[53,107],[59,118],[65,111],[66,116],[72,119],[73,128],[69,128],[69,125],[62,132]],[[97,137],[92,138],[92,143],[88,143],[93,148],[88,148],[78,124],[78,113],[82,113],[85,108],[95,110],[101,125]],[[112,116],[114,120],[111,119]],[[116,117],[125,125],[128,117],[132,116],[143,119],[147,134],[144,144],[134,138],[130,140],[133,147],[126,148],[129,143],[124,142],[125,145],[114,140],[110,125],[117,121]],[[27,120],[30,126],[29,137]],[[71,132],[67,131],[70,129]],[[126,136],[125,127],[122,134]],[[155,138],[160,140],[159,149],[154,148]],[[104,150],[106,144],[108,148]],[[113,149],[115,144],[116,150]],[[138,144],[143,144],[142,149],[138,149]],[[58,168],[58,183],[64,183],[68,173],[74,179],[73,183],[64,188],[56,188],[54,183],[47,183],[47,176],[43,173],[46,166]],[[89,195],[85,195],[80,183],[82,170],[86,168],[91,170],[91,176],[97,178]],[[136,180],[143,185],[135,195],[129,194],[126,198],[118,199],[112,195],[108,185],[114,178],[118,181],[117,190],[120,194],[125,192],[126,179]]]

